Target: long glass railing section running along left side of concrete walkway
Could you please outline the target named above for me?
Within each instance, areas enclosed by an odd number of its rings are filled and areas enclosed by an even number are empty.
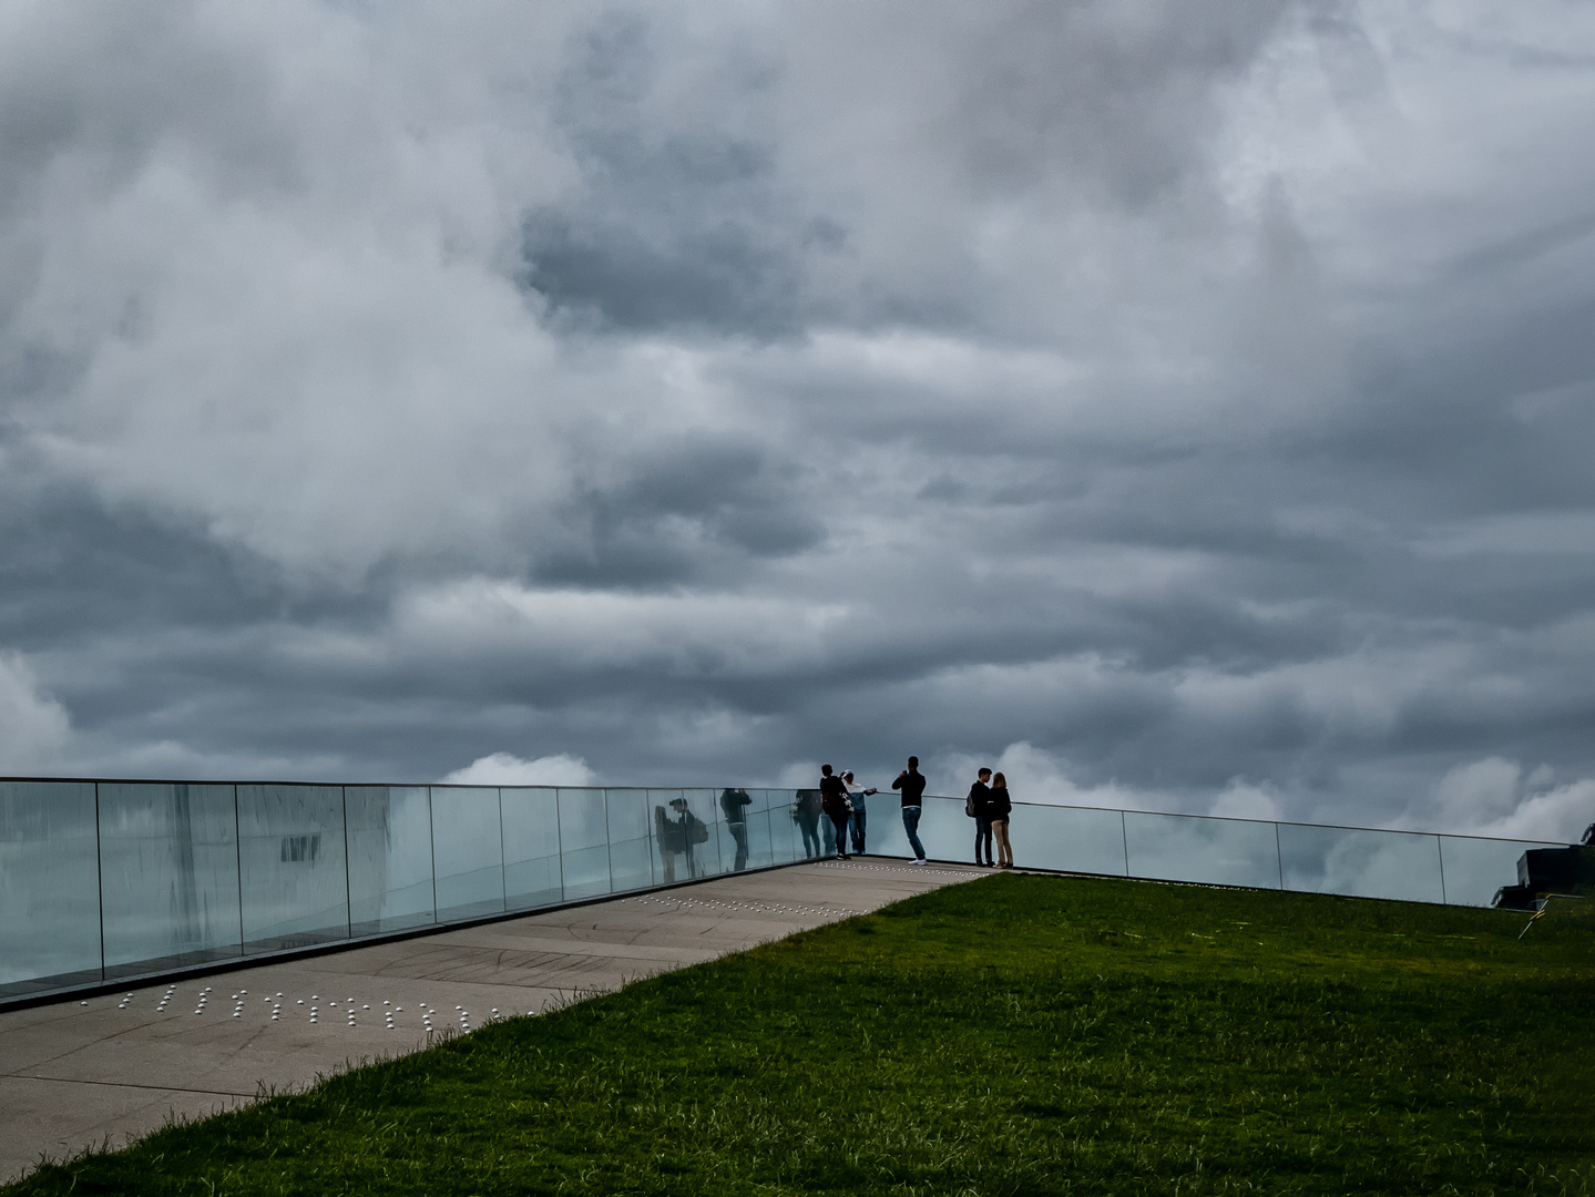
[[[0,1001],[791,864],[798,794],[0,781]]]

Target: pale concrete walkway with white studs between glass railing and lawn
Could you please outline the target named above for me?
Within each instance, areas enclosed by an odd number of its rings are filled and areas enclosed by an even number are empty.
[[[172,1117],[413,1052],[445,1026],[536,1014],[984,875],[805,864],[0,1014],[0,1183],[45,1156],[120,1148]]]

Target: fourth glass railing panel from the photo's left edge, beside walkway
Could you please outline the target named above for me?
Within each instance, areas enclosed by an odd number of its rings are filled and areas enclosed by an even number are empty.
[[[349,929],[356,936],[432,923],[432,810],[426,786],[345,786]]]

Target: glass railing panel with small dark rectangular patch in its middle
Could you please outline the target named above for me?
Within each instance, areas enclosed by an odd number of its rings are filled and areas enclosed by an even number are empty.
[[[238,850],[246,952],[349,934],[340,786],[239,786]]]

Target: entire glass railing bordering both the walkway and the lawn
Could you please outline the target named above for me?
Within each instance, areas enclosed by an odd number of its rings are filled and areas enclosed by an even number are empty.
[[[908,856],[898,795],[871,854]],[[919,837],[973,859],[962,799]],[[1016,803],[1014,862],[1488,905],[1538,840]],[[0,781],[0,1003],[820,859],[817,791]]]

